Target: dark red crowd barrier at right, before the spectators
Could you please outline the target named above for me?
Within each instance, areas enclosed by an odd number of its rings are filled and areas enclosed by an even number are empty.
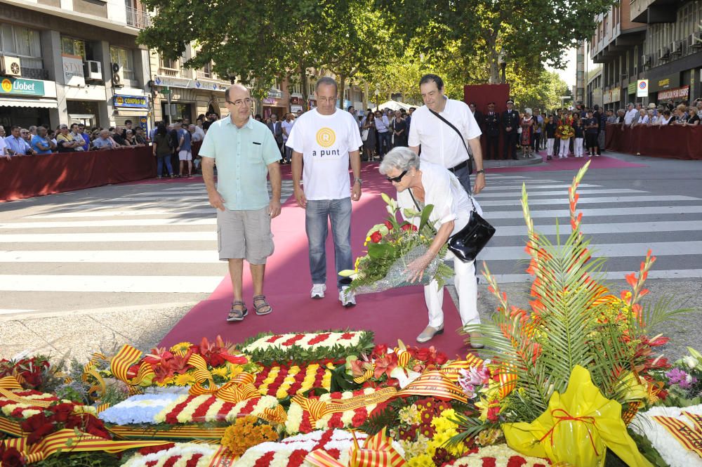
[[[608,151],[670,159],[702,159],[702,126],[607,125]]]

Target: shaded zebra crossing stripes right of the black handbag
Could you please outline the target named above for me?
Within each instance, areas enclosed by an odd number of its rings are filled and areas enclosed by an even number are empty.
[[[649,272],[651,279],[702,277],[702,198],[616,188],[617,180],[607,186],[592,180],[586,175],[578,187],[578,211],[583,213],[582,230],[591,240],[592,256],[609,258],[604,279],[621,280],[638,270],[649,249],[657,258]],[[531,280],[524,273],[529,256],[524,251],[527,228],[520,204],[522,183],[527,185],[535,230],[553,243],[560,234],[565,242],[571,230],[569,183],[552,182],[555,180],[488,175],[489,185],[477,199],[496,233],[479,255],[478,271],[484,261],[498,282]]]

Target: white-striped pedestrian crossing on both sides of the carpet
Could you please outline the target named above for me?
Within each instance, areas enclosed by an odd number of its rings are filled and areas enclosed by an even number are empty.
[[[480,254],[478,271],[485,261],[500,283],[530,279],[524,273],[522,184],[536,230],[555,242],[557,233],[564,240],[570,232],[572,175],[488,173],[477,200],[496,235]],[[610,258],[605,278],[623,279],[637,270],[648,249],[658,257],[649,277],[702,277],[702,198],[594,176],[586,176],[578,192],[592,254]],[[117,185],[99,197],[81,193],[22,206],[15,217],[8,216],[10,204],[0,206],[0,315],[199,301],[227,274],[217,256],[215,211],[201,183]],[[291,181],[284,180],[283,199],[291,194]]]

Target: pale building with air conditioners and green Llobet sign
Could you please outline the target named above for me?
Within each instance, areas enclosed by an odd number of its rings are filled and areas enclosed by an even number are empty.
[[[0,124],[145,116],[149,55],[135,37],[149,18],[129,1],[0,1]]]

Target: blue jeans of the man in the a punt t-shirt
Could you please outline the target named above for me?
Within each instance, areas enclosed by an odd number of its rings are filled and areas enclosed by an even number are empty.
[[[326,284],[326,236],[334,239],[334,261],[336,272],[353,269],[351,257],[351,198],[308,199],[305,209],[305,231],[310,245],[310,273],[312,284]],[[351,283],[349,277],[336,276],[336,285]]]

